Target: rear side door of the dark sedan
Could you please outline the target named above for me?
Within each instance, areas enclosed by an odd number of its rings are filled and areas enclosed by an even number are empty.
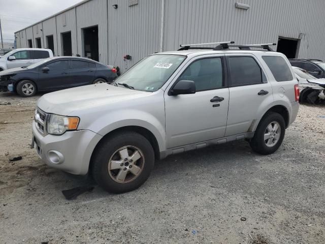
[[[71,85],[79,86],[92,84],[95,71],[96,65],[94,63],[84,60],[71,60]]]

